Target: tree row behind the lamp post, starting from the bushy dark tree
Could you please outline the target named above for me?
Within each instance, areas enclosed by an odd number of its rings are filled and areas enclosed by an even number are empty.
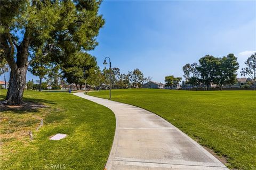
[[[95,87],[109,88],[110,83],[110,70],[103,69],[100,71],[96,64],[95,58],[91,61],[89,68],[85,68],[84,62],[76,62],[75,65],[63,68],[63,78],[66,78],[67,83],[75,83],[77,89],[81,89],[82,85],[86,84],[86,89]],[[121,73],[118,67],[111,69],[111,87],[115,89],[124,88],[141,88],[143,82],[150,80],[150,77],[144,77],[143,73],[139,69],[134,69],[128,73]],[[102,87],[103,86],[103,87]]]

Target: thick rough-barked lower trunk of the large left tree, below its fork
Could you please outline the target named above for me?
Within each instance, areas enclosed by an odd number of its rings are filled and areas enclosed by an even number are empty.
[[[5,100],[9,105],[21,105],[23,91],[26,86],[27,67],[20,67],[17,70],[11,70],[9,88]]]

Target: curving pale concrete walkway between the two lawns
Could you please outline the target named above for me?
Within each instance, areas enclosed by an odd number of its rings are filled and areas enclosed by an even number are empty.
[[[116,132],[106,169],[228,169],[171,123],[145,109],[107,99],[74,95],[106,106]]]

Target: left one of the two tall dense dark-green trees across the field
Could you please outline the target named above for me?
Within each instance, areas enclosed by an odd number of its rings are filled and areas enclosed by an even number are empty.
[[[201,75],[201,81],[207,86],[207,90],[209,89],[210,84],[215,81],[218,63],[219,58],[210,55],[206,55],[199,59],[197,70]]]

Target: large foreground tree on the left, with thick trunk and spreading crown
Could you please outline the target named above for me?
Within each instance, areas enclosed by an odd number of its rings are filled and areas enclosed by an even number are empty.
[[[100,3],[1,1],[0,43],[11,69],[5,103],[22,104],[28,58],[38,46],[44,43],[52,46],[51,61],[61,64],[75,52],[92,50],[98,45],[95,36],[104,24],[102,15],[98,15]]]

